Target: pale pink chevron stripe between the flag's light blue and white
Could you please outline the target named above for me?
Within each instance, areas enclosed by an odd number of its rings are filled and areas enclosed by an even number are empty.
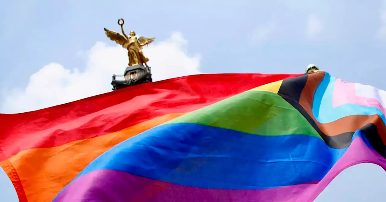
[[[366,107],[376,107],[383,112],[386,112],[386,109],[382,106],[381,103],[379,103],[378,100],[374,98],[357,96],[355,83],[347,83],[342,79],[337,78],[334,83],[333,93],[333,107],[338,107],[344,104],[357,104]]]

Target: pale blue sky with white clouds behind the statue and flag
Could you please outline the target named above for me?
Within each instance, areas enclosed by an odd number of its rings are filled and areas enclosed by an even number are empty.
[[[197,73],[303,73],[310,63],[386,90],[386,1],[12,0],[0,3],[0,113],[111,91],[127,52],[103,28],[156,37],[144,48],[153,79]],[[315,200],[384,201],[386,173],[350,167]],[[0,170],[0,195],[16,202]]]

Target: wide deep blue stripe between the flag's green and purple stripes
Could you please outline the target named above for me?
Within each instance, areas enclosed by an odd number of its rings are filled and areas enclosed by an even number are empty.
[[[266,189],[321,180],[346,150],[308,135],[259,136],[166,124],[108,150],[78,177],[115,169],[193,187]]]

